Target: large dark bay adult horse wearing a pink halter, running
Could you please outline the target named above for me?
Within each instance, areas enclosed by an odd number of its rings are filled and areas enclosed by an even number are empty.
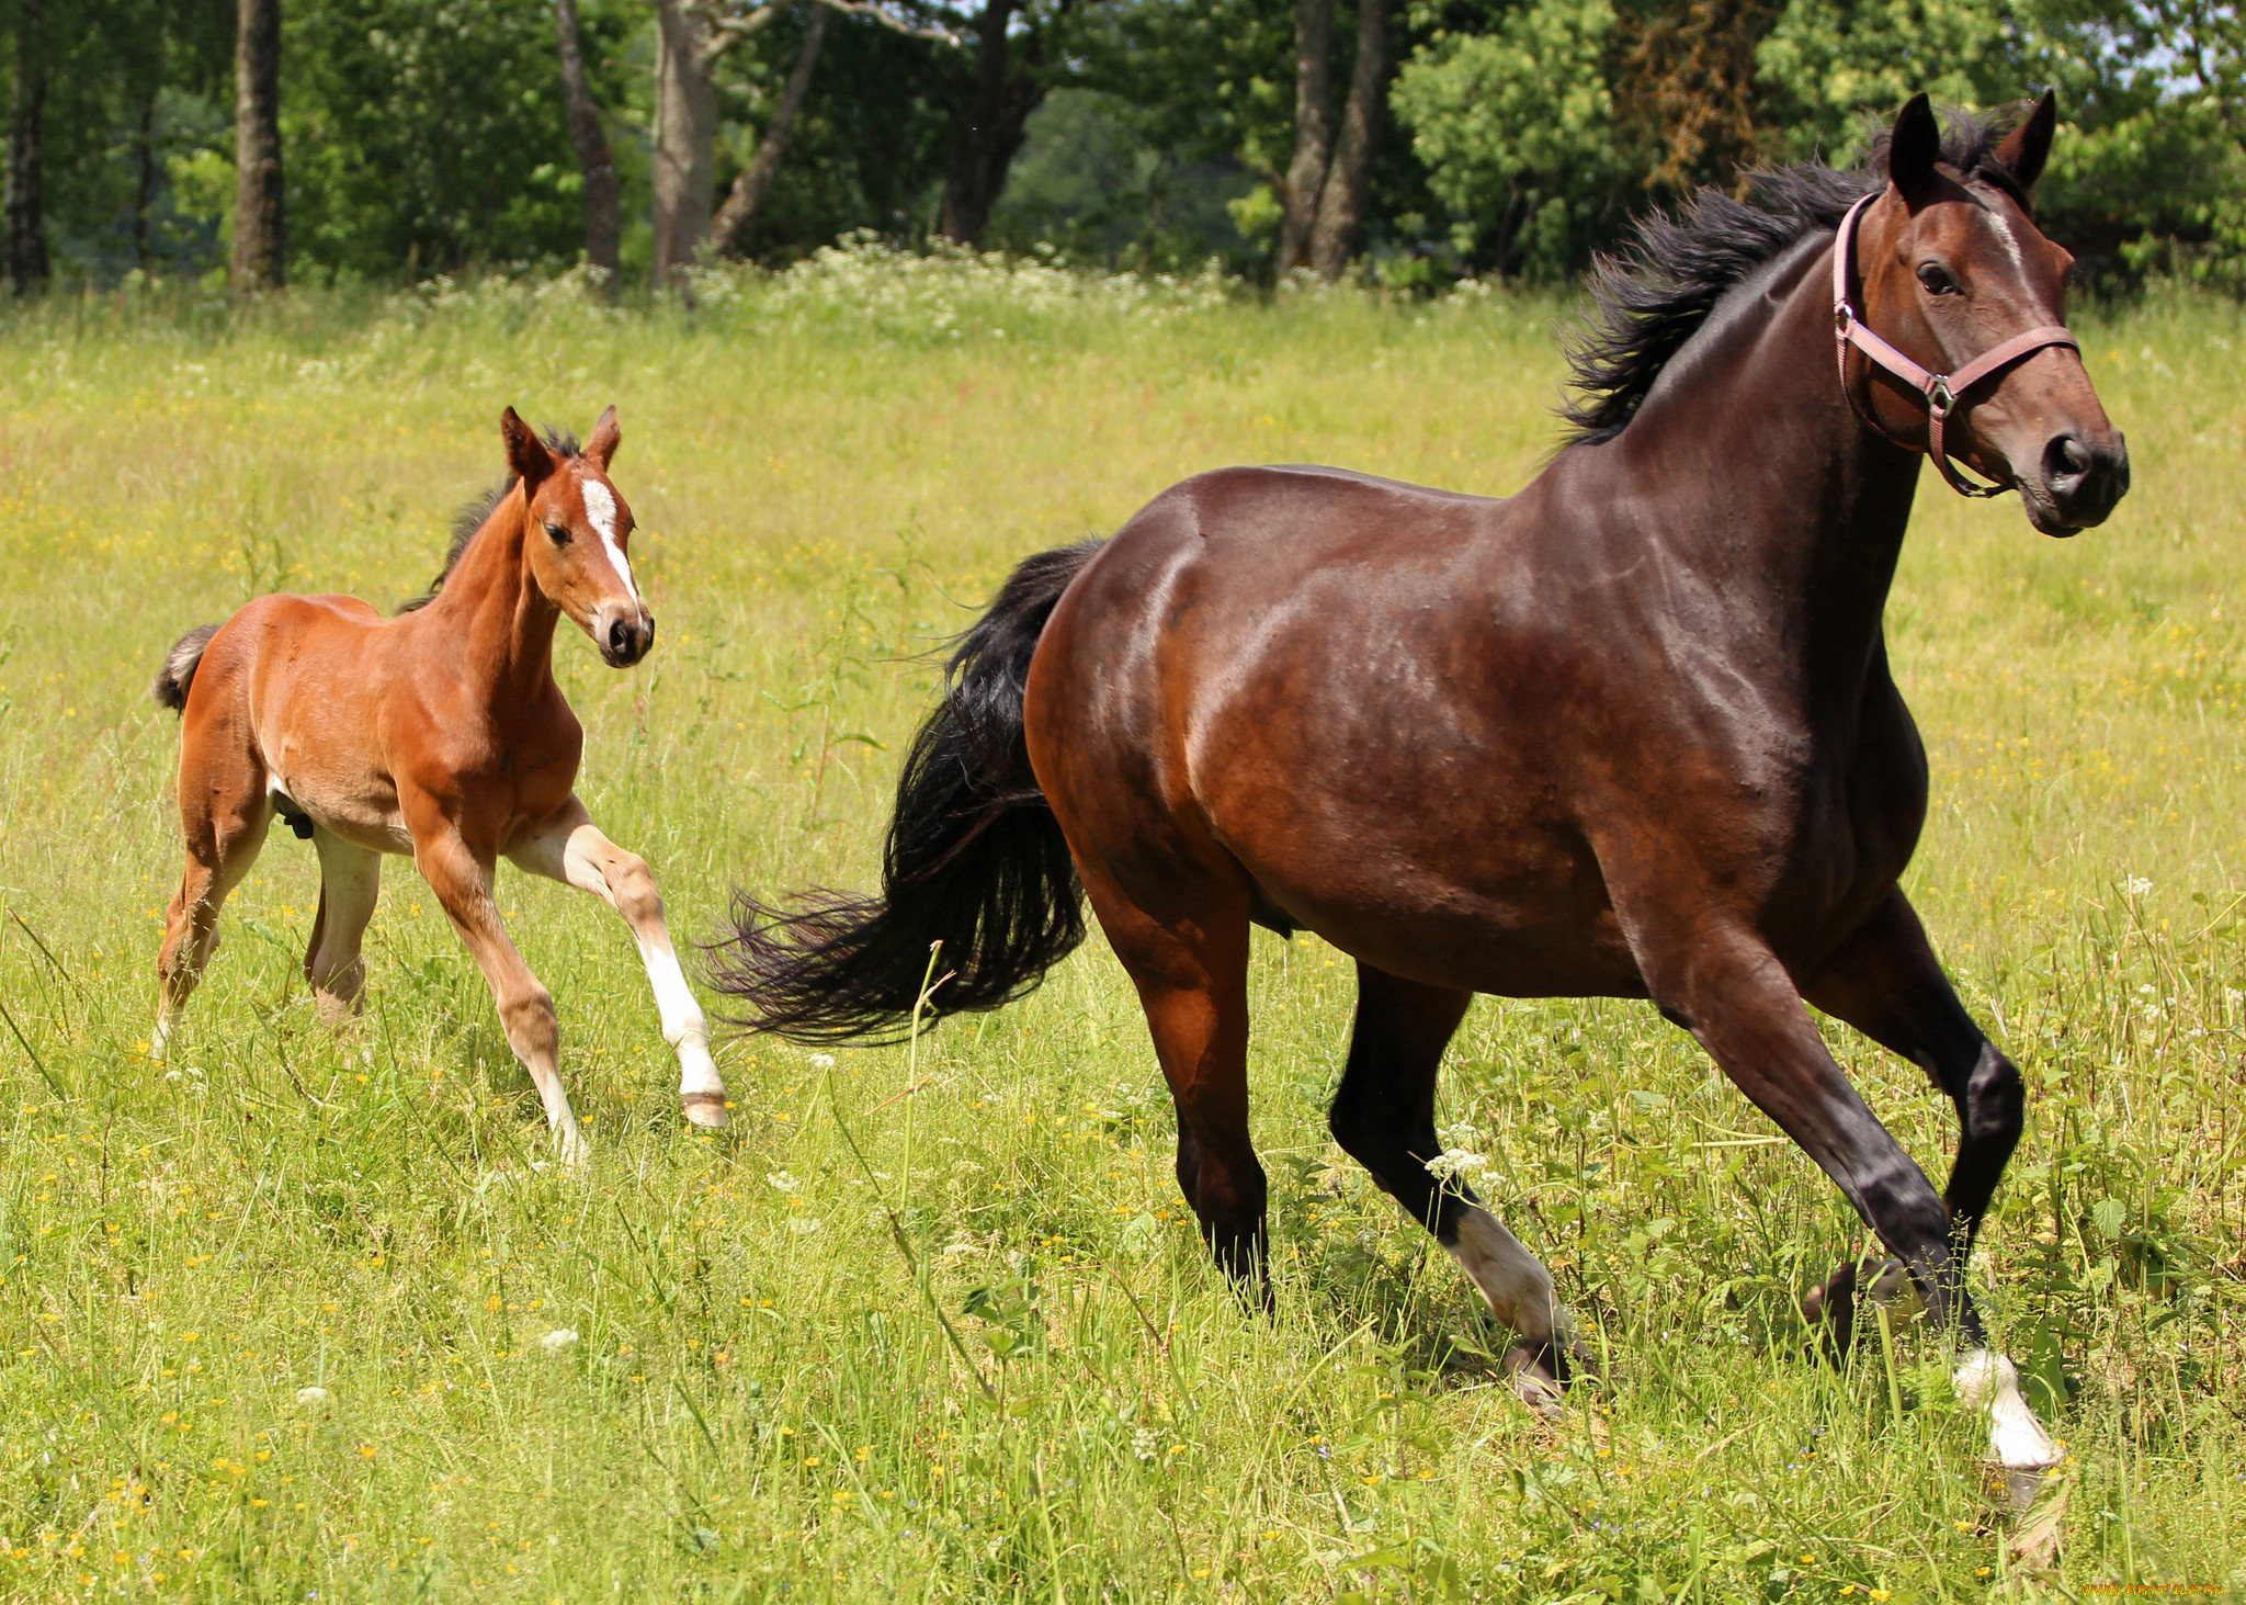
[[[1864,171],[1763,171],[1752,202],[1642,223],[1595,276],[1574,436],[1512,499],[1231,468],[1031,557],[910,751],[880,895],[739,895],[721,989],[788,1036],[894,1034],[930,942],[955,971],[934,1012],[990,1009],[1083,940],[1089,897],[1179,1187],[1264,1288],[1249,926],[1316,931],[1359,980],[1334,1140],[1514,1329],[1543,1412],[1586,1360],[1545,1268],[1428,1173],[1435,1072],[1478,991],[1649,998],[1896,1257],[1837,1270],[1810,1317],[1846,1344],[1860,1284],[1916,1290],[2033,1490],[2057,1450],[1965,1288],[2021,1079],[1898,888],[1927,758],[1882,609],[1929,447],[2046,535],[2127,488],[2062,321],[2073,259],[2028,209],[2053,126],[2046,94],[1945,135],[1920,94]],[[1947,1191],[1804,1003],[1956,1101]]]

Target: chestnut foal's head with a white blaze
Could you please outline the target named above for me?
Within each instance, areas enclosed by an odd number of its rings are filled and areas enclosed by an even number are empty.
[[[499,420],[508,468],[523,488],[523,557],[539,591],[593,636],[609,668],[638,663],[656,645],[656,616],[631,578],[631,508],[609,483],[624,432],[615,407],[582,450],[555,450],[512,407]]]

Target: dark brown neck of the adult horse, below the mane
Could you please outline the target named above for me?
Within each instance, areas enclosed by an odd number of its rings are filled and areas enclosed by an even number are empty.
[[[1810,238],[1734,290],[1622,438],[1640,436],[1633,463],[1655,488],[1682,470],[1714,490],[1662,526],[1669,555],[1702,569],[1741,625],[1777,636],[1817,686],[1853,699],[1882,645],[1918,456],[1848,407],[1830,283],[1830,238]]]

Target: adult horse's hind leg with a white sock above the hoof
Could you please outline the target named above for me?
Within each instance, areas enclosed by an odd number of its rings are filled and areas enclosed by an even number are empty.
[[[1500,1322],[1521,1338],[1505,1355],[1514,1391],[1543,1416],[1559,1414],[1561,1382],[1579,1355],[1568,1313],[1552,1297],[1552,1272],[1451,1178],[1437,1185],[1428,1160],[1435,1137],[1435,1070],[1473,1003],[1471,991],[1424,987],[1368,964],[1357,967],[1357,1025],[1327,1117],[1334,1142],[1363,1164],[1397,1205],[1435,1234]]]

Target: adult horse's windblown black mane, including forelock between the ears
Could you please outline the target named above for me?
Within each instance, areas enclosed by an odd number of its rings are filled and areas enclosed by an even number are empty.
[[[2026,209],[2019,180],[1997,160],[2015,119],[1950,110],[1943,121],[1943,164]],[[1851,171],[1817,160],[1754,169],[1745,200],[1702,187],[1673,214],[1642,218],[1622,252],[1601,252],[1590,268],[1586,328],[1568,346],[1577,391],[1561,400],[1568,438],[1622,434],[1660,371],[1734,285],[1813,232],[1837,229],[1848,207],[1887,184],[1889,137],[1880,128],[1864,166]]]

